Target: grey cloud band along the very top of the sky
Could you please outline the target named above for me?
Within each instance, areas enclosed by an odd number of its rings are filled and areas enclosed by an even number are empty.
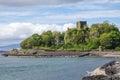
[[[0,0],[3,7],[33,7],[43,5],[62,5],[72,3],[120,3],[119,0]]]

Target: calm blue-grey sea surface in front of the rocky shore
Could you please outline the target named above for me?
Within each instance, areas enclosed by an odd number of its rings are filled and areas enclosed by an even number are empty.
[[[81,80],[89,71],[115,58],[5,58],[0,80]]]

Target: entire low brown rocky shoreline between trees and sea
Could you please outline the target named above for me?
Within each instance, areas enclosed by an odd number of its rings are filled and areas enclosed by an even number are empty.
[[[2,56],[5,57],[117,57],[120,58],[120,52],[114,51],[65,51],[65,50],[18,50],[13,49]]]

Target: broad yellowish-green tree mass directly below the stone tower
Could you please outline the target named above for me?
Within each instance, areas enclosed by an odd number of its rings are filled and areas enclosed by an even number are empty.
[[[65,44],[85,44],[89,40],[89,28],[84,25],[81,29],[73,28],[65,32]]]

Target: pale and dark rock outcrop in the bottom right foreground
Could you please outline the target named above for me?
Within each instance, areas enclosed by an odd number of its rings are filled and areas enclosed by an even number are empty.
[[[120,61],[106,63],[82,80],[120,80]]]

